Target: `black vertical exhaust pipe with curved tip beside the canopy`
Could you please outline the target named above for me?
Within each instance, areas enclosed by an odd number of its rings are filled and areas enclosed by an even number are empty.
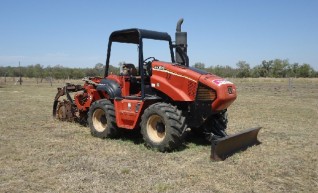
[[[183,23],[183,18],[179,19],[176,28],[176,62],[189,66],[189,59],[187,56],[187,32],[181,32],[181,25]]]

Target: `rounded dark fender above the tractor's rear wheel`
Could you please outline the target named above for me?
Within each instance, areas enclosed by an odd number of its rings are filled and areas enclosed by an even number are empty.
[[[110,99],[122,97],[121,88],[119,84],[114,80],[102,79],[96,87],[96,90],[105,91],[109,95]]]

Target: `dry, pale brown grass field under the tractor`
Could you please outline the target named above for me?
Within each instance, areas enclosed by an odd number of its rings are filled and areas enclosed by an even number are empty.
[[[262,126],[261,145],[211,162],[189,140],[173,153],[102,140],[54,121],[63,83],[0,79],[0,192],[318,192],[318,79],[231,79],[228,133]]]

